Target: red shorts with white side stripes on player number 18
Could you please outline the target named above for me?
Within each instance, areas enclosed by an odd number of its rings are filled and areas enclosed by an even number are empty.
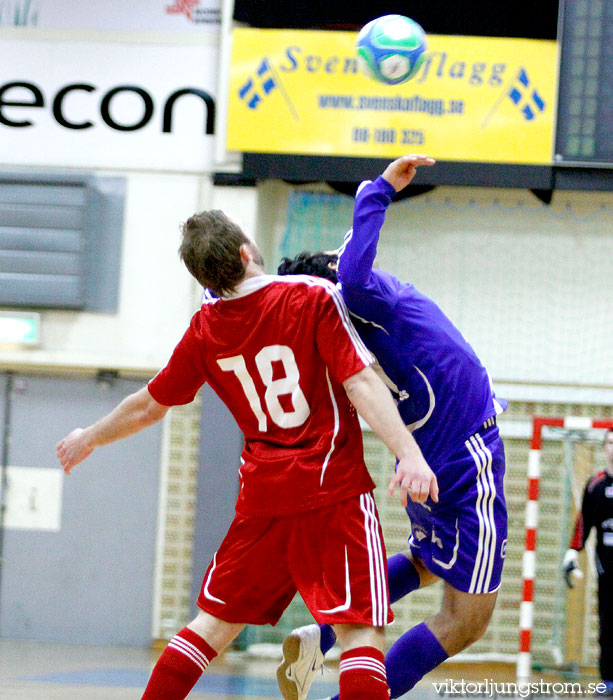
[[[198,606],[227,622],[274,625],[296,591],[319,624],[393,620],[371,493],[279,518],[237,515],[207,569]]]

